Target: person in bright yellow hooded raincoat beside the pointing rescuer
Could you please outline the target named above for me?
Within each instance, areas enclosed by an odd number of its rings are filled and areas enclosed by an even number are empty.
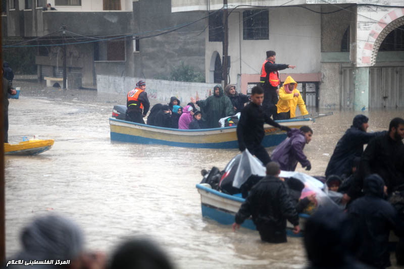
[[[305,101],[301,98],[301,94],[296,87],[296,81],[291,76],[288,76],[283,86],[279,89],[279,101],[276,104],[278,107],[276,120],[287,120],[296,117],[297,105],[299,106],[301,115],[309,114]]]

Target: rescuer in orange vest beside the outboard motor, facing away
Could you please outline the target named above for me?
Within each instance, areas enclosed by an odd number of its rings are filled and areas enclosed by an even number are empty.
[[[126,99],[126,120],[135,123],[144,124],[143,117],[146,117],[150,103],[147,99],[146,82],[139,80],[136,88],[128,92]]]

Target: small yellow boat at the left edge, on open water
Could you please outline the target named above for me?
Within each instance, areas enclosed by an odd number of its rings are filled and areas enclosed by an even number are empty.
[[[30,139],[18,144],[4,143],[4,154],[6,155],[36,155],[49,150],[54,144],[53,139]]]

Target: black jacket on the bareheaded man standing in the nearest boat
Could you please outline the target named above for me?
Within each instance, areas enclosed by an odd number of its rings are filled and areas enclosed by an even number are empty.
[[[265,136],[264,123],[282,128],[264,113],[262,105],[250,102],[242,109],[240,120],[237,124],[237,139],[240,151],[243,151],[245,148],[251,149],[261,145]]]

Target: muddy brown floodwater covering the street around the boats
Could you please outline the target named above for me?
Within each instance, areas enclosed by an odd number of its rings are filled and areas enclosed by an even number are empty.
[[[113,143],[108,119],[114,104],[125,104],[125,96],[43,88],[27,81],[14,86],[21,93],[20,99],[10,99],[10,142],[35,135],[55,139],[55,144],[37,156],[5,157],[7,256],[19,250],[24,225],[53,211],[82,227],[89,250],[110,253],[124,238],[144,235],[157,241],[177,268],[307,265],[299,238],[266,244],[257,231],[233,233],[231,226],[201,217],[195,188],[200,170],[223,169],[238,150]],[[305,148],[310,175],[324,174],[337,140],[356,114],[334,111],[316,120],[313,140]],[[368,131],[379,131],[404,113],[365,115],[370,117]],[[304,169],[298,165],[297,171]]]

